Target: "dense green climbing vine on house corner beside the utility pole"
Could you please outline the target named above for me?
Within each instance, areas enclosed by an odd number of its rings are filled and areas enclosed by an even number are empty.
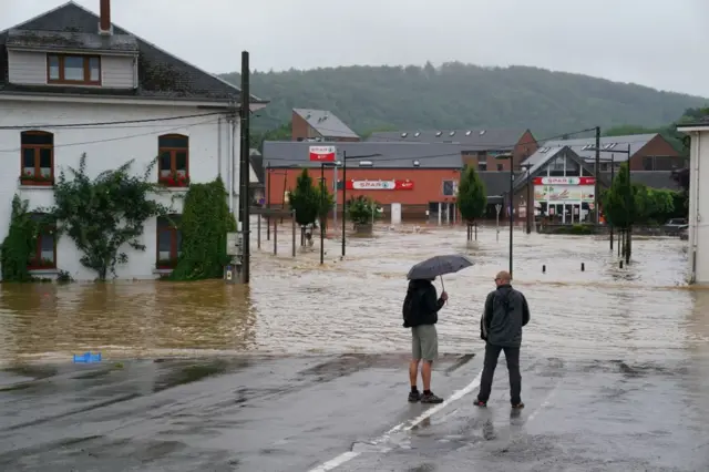
[[[172,280],[220,278],[228,264],[226,234],[236,232],[236,220],[226,203],[220,177],[207,184],[191,184],[185,195],[178,229],[182,255],[169,276]]]

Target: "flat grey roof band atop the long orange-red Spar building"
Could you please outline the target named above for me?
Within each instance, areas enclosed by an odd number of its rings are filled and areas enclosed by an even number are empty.
[[[266,141],[264,142],[264,162],[271,167],[319,167],[317,162],[309,161],[311,145],[336,146],[341,156],[348,154],[348,167],[359,167],[359,161],[370,161],[377,168],[413,168],[414,161],[420,167],[429,168],[461,168],[462,147],[442,143],[388,143],[388,142],[345,142],[345,143],[309,143],[299,141]],[[373,156],[372,154],[379,154]],[[354,158],[353,156],[369,156]],[[340,157],[341,158],[341,157]]]

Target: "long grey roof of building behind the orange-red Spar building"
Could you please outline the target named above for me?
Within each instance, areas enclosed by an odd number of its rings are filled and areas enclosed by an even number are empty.
[[[372,133],[372,135],[367,141],[404,143],[458,143],[461,145],[465,145],[466,151],[510,151],[517,144],[522,135],[527,131],[528,130],[526,129],[388,131]],[[439,133],[440,135],[436,135]]]

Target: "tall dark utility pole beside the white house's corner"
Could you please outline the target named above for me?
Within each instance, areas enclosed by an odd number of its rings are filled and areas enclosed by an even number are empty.
[[[249,117],[250,117],[250,102],[251,95],[249,91],[249,65],[248,65],[248,51],[242,51],[242,106],[240,106],[240,125],[242,125],[242,146],[240,146],[240,164],[242,164],[242,186],[239,189],[239,204],[242,204],[240,220],[242,220],[242,283],[249,283],[249,266],[250,266],[250,199],[249,199]]]

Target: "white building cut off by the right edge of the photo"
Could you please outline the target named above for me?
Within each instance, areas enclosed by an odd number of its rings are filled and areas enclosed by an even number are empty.
[[[677,130],[690,138],[689,151],[689,274],[695,284],[709,284],[709,119]],[[707,166],[705,171],[703,166]],[[703,173],[707,173],[705,177]],[[703,182],[703,184],[702,184]],[[707,222],[702,219],[707,208]]]

